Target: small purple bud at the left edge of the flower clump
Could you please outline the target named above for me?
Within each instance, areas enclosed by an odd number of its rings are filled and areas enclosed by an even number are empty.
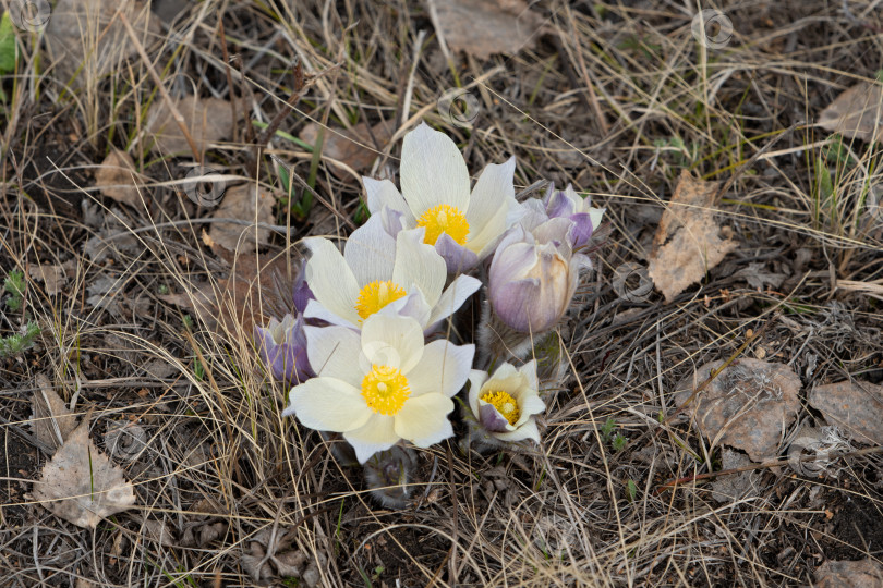
[[[261,359],[279,381],[290,385],[315,376],[306,355],[306,334],[302,315],[286,315],[281,321],[271,318],[269,326],[254,327],[254,339]]]

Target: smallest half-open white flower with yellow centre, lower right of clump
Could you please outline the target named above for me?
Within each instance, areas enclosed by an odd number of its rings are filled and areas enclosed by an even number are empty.
[[[469,407],[494,439],[533,439],[539,443],[535,415],[546,407],[539,390],[535,359],[520,368],[503,364],[489,378],[486,371],[473,369],[469,375]]]

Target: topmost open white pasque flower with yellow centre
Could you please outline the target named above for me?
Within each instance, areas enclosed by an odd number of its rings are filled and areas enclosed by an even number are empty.
[[[362,177],[372,215],[390,234],[424,226],[448,272],[467,271],[493,250],[521,213],[515,199],[515,158],[488,164],[470,194],[469,172],[457,145],[426,123],[404,135],[401,193],[389,180]]]

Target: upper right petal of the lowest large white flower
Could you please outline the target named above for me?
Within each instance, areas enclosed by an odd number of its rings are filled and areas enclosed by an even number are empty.
[[[412,397],[433,392],[448,397],[457,394],[469,378],[474,355],[475,345],[455,345],[446,340],[423,347],[420,363],[404,373]]]

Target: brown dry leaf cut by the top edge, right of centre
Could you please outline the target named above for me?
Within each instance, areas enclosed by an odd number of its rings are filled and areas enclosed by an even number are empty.
[[[540,17],[522,0],[426,0],[433,23],[453,51],[476,58],[536,45]]]

